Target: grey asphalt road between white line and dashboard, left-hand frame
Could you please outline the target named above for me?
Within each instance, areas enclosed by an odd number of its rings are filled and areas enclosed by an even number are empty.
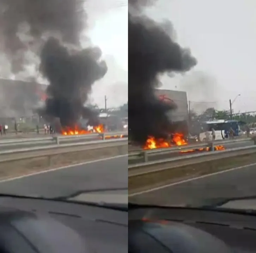
[[[57,197],[78,190],[128,187],[128,158],[121,156],[0,182],[0,194]]]

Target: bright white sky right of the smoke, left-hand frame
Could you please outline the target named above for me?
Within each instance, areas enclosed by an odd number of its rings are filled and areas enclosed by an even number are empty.
[[[127,0],[87,1],[85,9],[89,25],[85,34],[101,48],[108,65],[105,77],[93,85],[90,102],[104,107],[106,95],[107,107],[120,106],[128,101]]]

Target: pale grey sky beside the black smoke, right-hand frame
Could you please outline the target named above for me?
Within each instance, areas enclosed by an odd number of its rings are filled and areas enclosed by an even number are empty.
[[[236,98],[234,112],[256,111],[256,1],[158,0],[146,13],[169,19],[198,60],[185,76],[163,77],[162,89],[187,91],[195,110],[228,110]]]

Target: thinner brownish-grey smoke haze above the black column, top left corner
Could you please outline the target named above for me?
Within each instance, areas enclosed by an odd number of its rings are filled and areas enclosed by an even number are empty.
[[[80,0],[0,0],[0,10],[1,50],[11,61],[13,73],[23,70],[25,52],[37,50],[47,33],[79,45],[86,21]]]

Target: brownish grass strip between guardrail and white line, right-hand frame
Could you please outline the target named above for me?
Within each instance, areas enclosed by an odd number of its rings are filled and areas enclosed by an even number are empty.
[[[152,171],[146,174],[129,176],[129,194],[251,163],[256,163],[255,153],[220,158],[212,161],[202,161],[195,164],[177,166],[173,168],[171,168],[172,166],[170,162],[170,168],[165,167],[166,169],[160,171]]]

